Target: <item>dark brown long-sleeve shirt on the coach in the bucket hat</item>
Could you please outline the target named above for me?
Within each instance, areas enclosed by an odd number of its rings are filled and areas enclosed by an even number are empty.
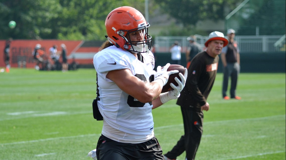
[[[219,56],[213,58],[205,51],[198,53],[191,61],[186,85],[176,104],[200,112],[215,82],[218,63]]]

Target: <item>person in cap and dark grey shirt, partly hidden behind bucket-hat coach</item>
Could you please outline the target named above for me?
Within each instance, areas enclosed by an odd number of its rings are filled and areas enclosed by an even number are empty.
[[[188,50],[186,52],[186,63],[187,63],[187,68],[189,68],[192,59],[194,58],[194,56],[196,56],[196,54],[202,52],[202,48],[200,47],[199,44],[196,43],[195,36],[189,36],[187,40],[190,43],[188,46]]]

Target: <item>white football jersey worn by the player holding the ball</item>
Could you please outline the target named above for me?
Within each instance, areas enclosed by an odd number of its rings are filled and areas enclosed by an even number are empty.
[[[94,56],[100,98],[97,103],[104,120],[102,134],[116,141],[126,138],[128,139],[126,143],[132,143],[130,137],[133,137],[136,143],[138,139],[143,138],[146,141],[154,135],[152,102],[139,102],[106,78],[108,71],[130,69],[134,76],[150,82],[154,69],[154,56],[152,52],[141,53],[141,55],[143,63],[130,52],[110,46]]]

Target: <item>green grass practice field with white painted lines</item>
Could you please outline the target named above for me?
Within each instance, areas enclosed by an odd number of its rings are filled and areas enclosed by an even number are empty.
[[[223,100],[218,73],[196,159],[285,160],[285,81],[285,73],[241,73],[242,100]],[[92,116],[95,95],[94,69],[0,73],[0,160],[92,160],[86,155],[102,129]],[[164,153],[184,133],[175,102],[153,110]]]

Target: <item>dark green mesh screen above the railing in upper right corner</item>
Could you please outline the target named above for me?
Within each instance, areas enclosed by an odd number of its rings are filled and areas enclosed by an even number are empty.
[[[285,34],[285,0],[253,0],[248,2],[249,17],[240,21],[239,35],[255,35],[259,28],[260,35]],[[258,7],[257,7],[258,6]],[[237,17],[239,17],[238,14]]]

